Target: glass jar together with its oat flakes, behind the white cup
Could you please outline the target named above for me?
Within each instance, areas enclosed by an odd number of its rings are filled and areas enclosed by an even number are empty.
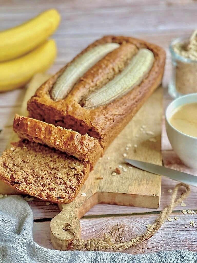
[[[169,94],[177,98],[197,93],[197,31],[174,39],[169,48],[173,65]]]

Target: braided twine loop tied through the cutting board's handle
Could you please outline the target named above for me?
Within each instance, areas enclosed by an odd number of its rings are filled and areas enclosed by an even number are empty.
[[[178,190],[184,187],[184,193],[177,196]],[[152,237],[162,226],[163,222],[166,218],[172,213],[173,209],[180,204],[188,195],[190,194],[190,188],[189,185],[184,183],[179,183],[175,186],[173,193],[172,193],[172,199],[170,201],[170,204],[168,207],[166,207],[159,215],[159,217],[155,220],[154,224],[151,225],[144,234],[134,237],[128,242],[118,243],[115,244],[112,241],[112,238],[107,235],[103,234],[102,238],[90,238],[87,240],[83,240],[79,237],[79,235],[76,233],[76,231],[71,227],[67,226],[66,230],[69,230],[74,235],[74,240],[72,241],[72,249],[73,250],[125,250],[129,247],[136,246],[140,243],[142,243],[144,240],[149,239]]]

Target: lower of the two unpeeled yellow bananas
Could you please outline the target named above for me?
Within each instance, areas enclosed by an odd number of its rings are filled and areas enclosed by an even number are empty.
[[[35,73],[45,72],[56,57],[53,39],[23,57],[0,63],[0,92],[22,87]]]

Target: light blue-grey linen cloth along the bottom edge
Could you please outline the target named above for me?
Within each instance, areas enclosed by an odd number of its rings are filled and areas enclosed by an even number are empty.
[[[186,250],[161,251],[130,255],[120,252],[58,251],[45,249],[33,241],[33,213],[20,195],[0,199],[0,262],[1,263],[194,263],[197,254]],[[197,240],[197,237],[196,237]]]

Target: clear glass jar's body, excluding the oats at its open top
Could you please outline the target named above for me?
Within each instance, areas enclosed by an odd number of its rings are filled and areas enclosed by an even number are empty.
[[[173,68],[168,92],[173,98],[197,92],[197,60],[183,57],[174,50],[174,45],[177,43],[187,45],[189,43],[189,37],[190,36],[176,38],[170,43],[169,49]]]

